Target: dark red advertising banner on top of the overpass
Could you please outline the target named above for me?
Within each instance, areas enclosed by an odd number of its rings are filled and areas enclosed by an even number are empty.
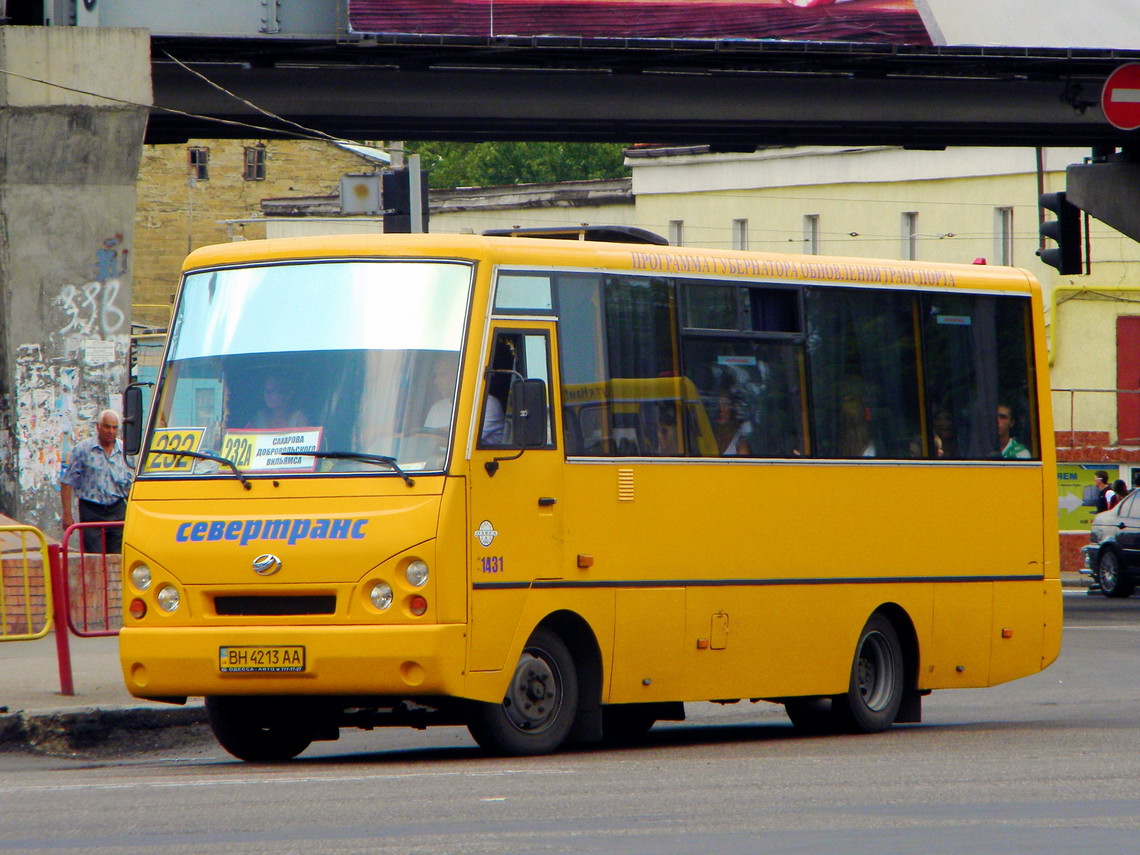
[[[367,34],[930,44],[915,0],[348,0]]]

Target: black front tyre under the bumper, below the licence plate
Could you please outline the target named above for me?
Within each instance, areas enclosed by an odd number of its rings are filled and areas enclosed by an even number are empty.
[[[317,733],[306,709],[280,698],[206,698],[206,719],[221,747],[249,763],[282,763],[307,749]]]

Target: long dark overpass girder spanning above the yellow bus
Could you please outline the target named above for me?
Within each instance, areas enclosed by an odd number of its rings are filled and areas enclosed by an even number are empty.
[[[1123,146],[1100,111],[1140,50],[709,40],[153,36],[147,141],[287,135],[234,96],[349,139]],[[178,60],[178,62],[176,62]],[[211,85],[196,71],[207,78]],[[193,114],[193,115],[185,115]]]

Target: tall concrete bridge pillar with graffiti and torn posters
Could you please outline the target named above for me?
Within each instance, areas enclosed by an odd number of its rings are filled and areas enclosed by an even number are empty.
[[[128,380],[149,47],[0,27],[0,510],[49,531],[62,463]]]

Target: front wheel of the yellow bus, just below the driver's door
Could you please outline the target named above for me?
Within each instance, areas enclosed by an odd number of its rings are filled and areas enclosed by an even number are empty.
[[[578,671],[563,641],[539,627],[530,636],[500,703],[478,703],[467,730],[482,748],[521,757],[549,754],[578,714]]]

